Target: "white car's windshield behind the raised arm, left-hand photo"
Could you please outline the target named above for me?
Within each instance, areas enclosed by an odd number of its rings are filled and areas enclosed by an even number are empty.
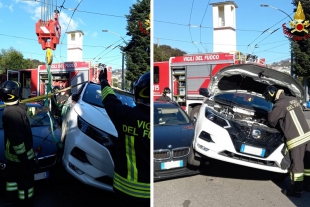
[[[135,102],[133,101],[133,95],[130,95],[129,93],[122,93],[117,90],[114,90],[115,95],[117,98],[122,102],[122,104],[134,107]],[[82,100],[86,103],[89,103],[91,105],[104,107],[101,100],[101,86],[97,84],[88,84],[87,88],[84,91]]]

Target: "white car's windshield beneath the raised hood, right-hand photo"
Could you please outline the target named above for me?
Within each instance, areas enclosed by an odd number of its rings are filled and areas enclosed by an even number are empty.
[[[244,93],[225,93],[215,96],[215,101],[227,104],[236,104],[247,108],[259,108],[271,111],[272,103],[267,102],[264,98]]]

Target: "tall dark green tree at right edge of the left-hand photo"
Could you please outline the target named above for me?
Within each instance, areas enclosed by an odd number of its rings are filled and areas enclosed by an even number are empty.
[[[125,47],[126,79],[136,81],[142,74],[150,71],[150,0],[137,0],[130,8],[127,18],[127,35],[131,40]]]

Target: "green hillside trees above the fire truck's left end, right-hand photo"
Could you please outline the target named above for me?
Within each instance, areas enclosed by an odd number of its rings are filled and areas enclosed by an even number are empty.
[[[186,52],[168,45],[154,44],[154,62],[168,61],[170,57],[182,56]]]

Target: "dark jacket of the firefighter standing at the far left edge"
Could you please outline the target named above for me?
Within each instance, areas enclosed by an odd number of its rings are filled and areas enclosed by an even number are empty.
[[[33,139],[26,105],[7,105],[3,111],[2,124],[6,159],[12,162],[33,160]]]

